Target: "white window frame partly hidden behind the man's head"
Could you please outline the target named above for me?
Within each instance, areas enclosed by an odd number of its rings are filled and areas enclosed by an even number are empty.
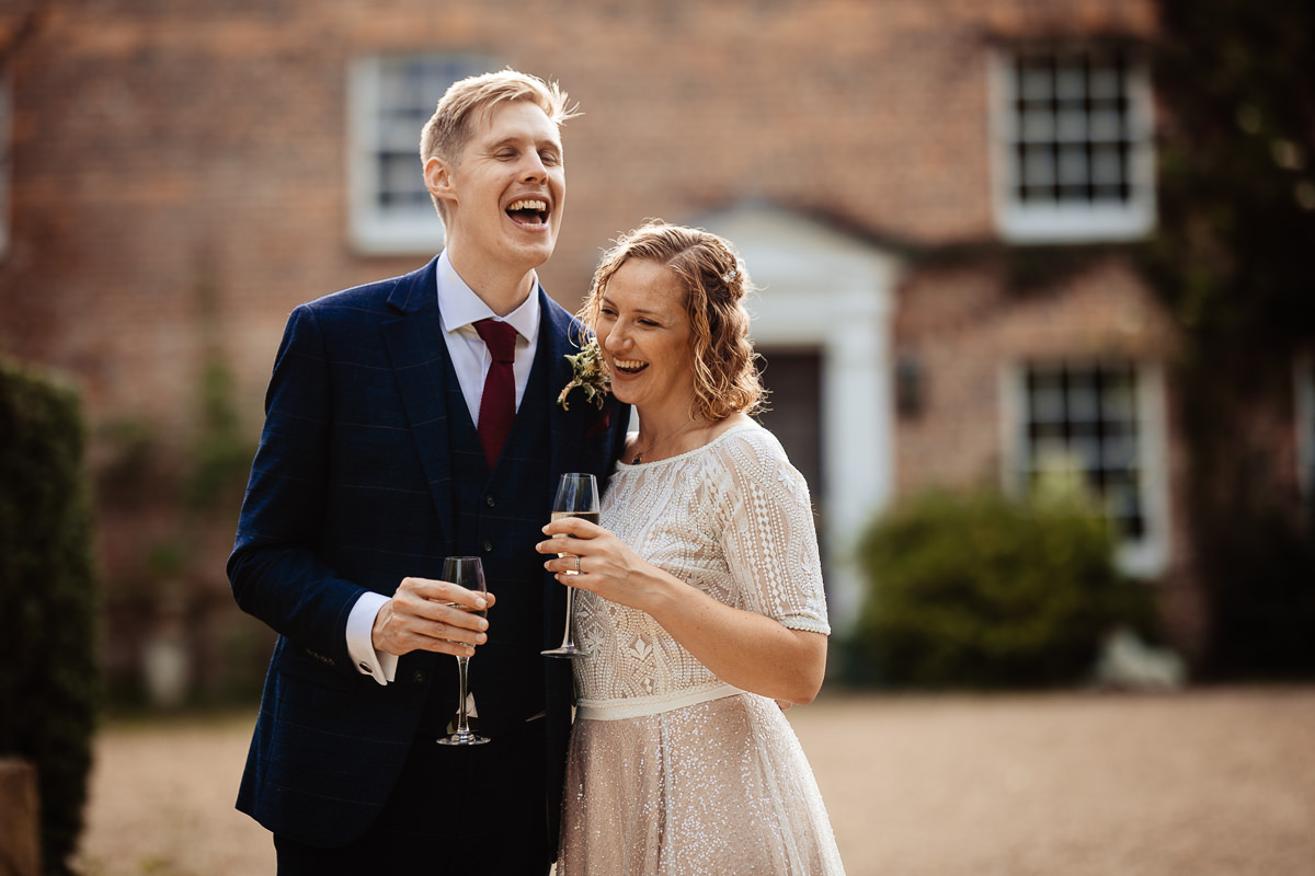
[[[423,185],[419,163],[419,137],[433,106],[451,81],[468,75],[496,70],[483,55],[459,53],[413,53],[405,55],[368,55],[356,58],[347,71],[347,222],[348,239],[358,252],[367,255],[431,253],[443,248],[444,230],[431,201],[387,208],[380,201],[384,175],[380,155],[388,150],[383,130],[383,106],[388,67],[393,64],[435,62],[454,70],[452,79],[435,84],[427,112],[414,126],[416,181]],[[444,79],[441,76],[439,79]],[[416,108],[419,110],[421,108]]]

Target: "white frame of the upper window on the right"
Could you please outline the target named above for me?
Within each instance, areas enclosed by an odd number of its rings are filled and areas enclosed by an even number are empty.
[[[1126,56],[1128,168],[1127,201],[1026,204],[1016,196],[1020,163],[1014,146],[1022,127],[1015,110],[1018,99],[1014,64],[1023,55],[1051,53],[1057,58],[1086,54],[1099,56],[1123,51]],[[1097,243],[1139,240],[1156,225],[1155,109],[1149,64],[1132,47],[1095,43],[1032,43],[998,46],[988,53],[989,113],[992,133],[992,204],[995,226],[1011,243]],[[1084,92],[1089,93],[1089,92]],[[1090,118],[1090,117],[1088,117]],[[1059,135],[1056,135],[1059,137]],[[1082,142],[1089,142],[1084,139]]]

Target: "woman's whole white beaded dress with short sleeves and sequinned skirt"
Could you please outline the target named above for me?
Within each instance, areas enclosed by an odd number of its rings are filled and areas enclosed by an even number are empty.
[[[722,603],[827,634],[807,483],[776,437],[734,427],[618,464],[602,525]],[[558,876],[843,873],[777,704],[713,675],[647,613],[577,591],[579,692]]]

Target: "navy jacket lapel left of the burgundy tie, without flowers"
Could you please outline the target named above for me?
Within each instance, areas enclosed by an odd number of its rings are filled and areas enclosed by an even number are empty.
[[[447,345],[438,315],[437,259],[400,277],[388,302],[401,317],[383,327],[384,343],[425,466],[439,525],[452,514],[452,456],[447,428],[444,365]],[[451,540],[452,533],[443,533]]]

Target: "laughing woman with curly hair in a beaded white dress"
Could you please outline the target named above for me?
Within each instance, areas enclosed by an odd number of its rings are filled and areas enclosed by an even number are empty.
[[[639,432],[602,525],[560,520],[538,546],[575,537],[544,565],[579,588],[588,650],[560,876],[843,873],[778,707],[817,695],[830,626],[807,483],[750,418],[748,288],[722,238],[650,223],[608,252],[581,311]]]

